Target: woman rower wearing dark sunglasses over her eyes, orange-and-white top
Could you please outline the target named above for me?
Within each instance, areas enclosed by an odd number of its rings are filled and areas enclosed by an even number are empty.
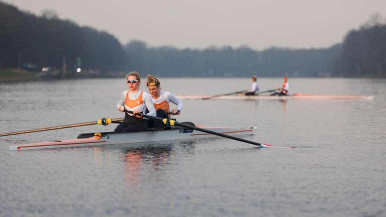
[[[121,99],[117,104],[120,112],[132,111],[134,114],[146,113],[149,116],[156,116],[155,108],[151,96],[139,89],[141,78],[136,71],[130,72],[126,75],[128,90],[121,94]],[[128,133],[147,130],[147,119],[142,119],[142,116],[134,116],[125,112],[125,119],[119,124],[114,133]]]

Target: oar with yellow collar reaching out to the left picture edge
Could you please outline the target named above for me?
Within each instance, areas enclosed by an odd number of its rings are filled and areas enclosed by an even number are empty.
[[[49,127],[49,128],[41,128],[41,129],[35,129],[35,130],[28,130],[28,131],[19,131],[19,132],[13,132],[13,133],[6,133],[6,134],[0,134],[0,137],[2,136],[11,136],[11,135],[17,135],[17,134],[25,134],[25,133],[35,133],[35,132],[41,132],[41,131],[49,131],[49,130],[58,130],[58,129],[64,129],[64,128],[73,128],[73,127],[82,127],[82,126],[88,126],[88,125],[108,125],[110,123],[119,123],[123,121],[124,118],[118,118],[118,119],[108,119],[103,118],[98,121],[93,122],[86,122],[86,123],[79,123],[79,124],[72,124],[72,125],[63,125],[63,126],[57,126],[57,127]]]

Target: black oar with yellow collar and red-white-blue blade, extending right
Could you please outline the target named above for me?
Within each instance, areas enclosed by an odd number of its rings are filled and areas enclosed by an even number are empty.
[[[132,111],[127,111],[126,110],[126,112],[130,113],[130,114],[133,114]],[[217,133],[217,132],[206,130],[206,129],[203,129],[203,128],[198,128],[198,127],[195,127],[195,126],[179,123],[179,122],[171,120],[171,119],[163,119],[163,118],[159,118],[159,117],[148,116],[148,115],[141,114],[141,113],[137,113],[137,114],[134,114],[134,115],[142,116],[144,118],[152,119],[152,120],[155,120],[155,121],[161,121],[161,122],[163,122],[164,124],[167,124],[167,125],[180,126],[180,127],[184,127],[184,128],[188,128],[188,129],[192,129],[192,130],[197,130],[197,131],[201,131],[201,132],[204,132],[204,133],[213,134],[213,135],[216,135],[216,136],[221,136],[221,137],[225,137],[225,138],[228,138],[228,139],[233,139],[233,140],[237,140],[237,141],[240,141],[240,142],[249,143],[249,144],[252,144],[252,145],[259,146],[259,147],[266,147],[266,148],[295,148],[295,147],[276,147],[276,146],[272,146],[272,145],[269,145],[269,144],[257,143],[257,142],[253,142],[253,141],[249,141],[249,140],[245,140],[245,139],[229,136],[227,134]]]

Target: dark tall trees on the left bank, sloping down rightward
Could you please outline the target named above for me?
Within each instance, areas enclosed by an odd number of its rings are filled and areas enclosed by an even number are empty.
[[[89,27],[60,20],[47,11],[38,17],[0,2],[0,68],[43,67],[122,70],[125,51],[118,40]]]

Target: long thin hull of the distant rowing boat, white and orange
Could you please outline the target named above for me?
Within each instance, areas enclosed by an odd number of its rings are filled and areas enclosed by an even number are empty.
[[[374,96],[354,96],[354,95],[312,95],[300,94],[294,95],[222,95],[211,97],[210,95],[177,95],[179,99],[241,99],[241,100],[260,100],[260,99],[373,99]]]

